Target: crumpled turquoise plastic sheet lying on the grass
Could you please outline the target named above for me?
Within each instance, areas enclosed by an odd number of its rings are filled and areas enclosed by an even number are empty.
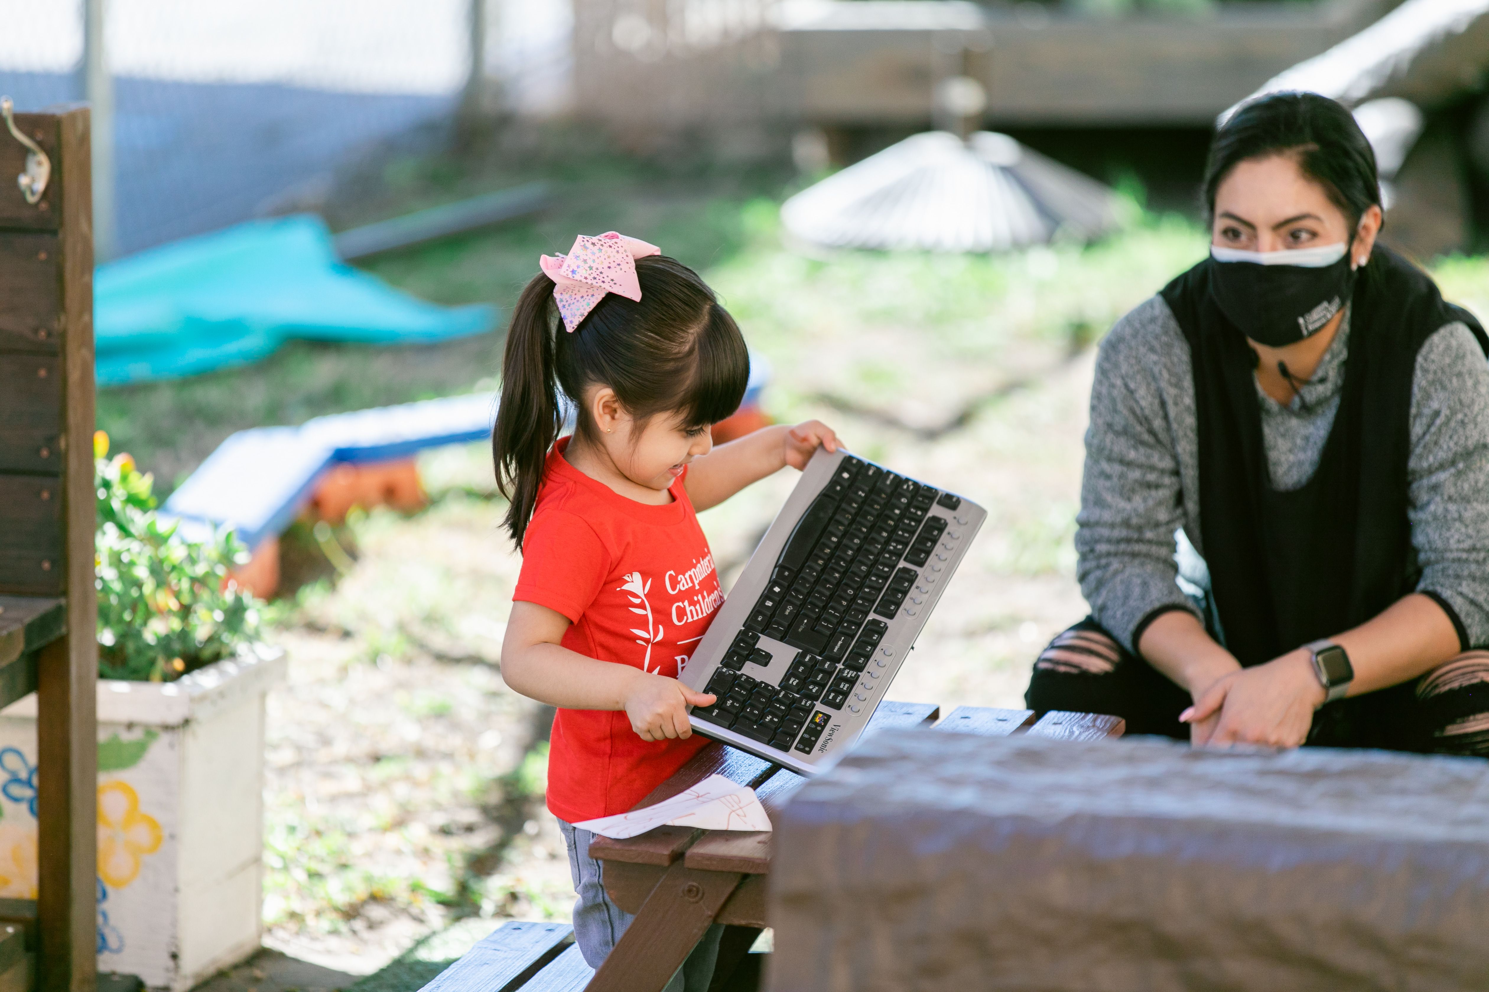
[[[316,216],[255,220],[98,268],[98,385],[264,358],[284,341],[427,344],[490,330],[496,308],[438,306],[337,257]]]

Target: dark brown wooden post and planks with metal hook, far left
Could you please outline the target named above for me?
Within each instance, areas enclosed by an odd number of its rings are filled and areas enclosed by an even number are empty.
[[[25,149],[0,129],[0,593],[66,596],[67,629],[37,663],[37,980],[97,988],[98,678],[94,590],[92,159],[86,107],[16,115],[51,159],[28,204]],[[34,521],[6,528],[6,519]]]

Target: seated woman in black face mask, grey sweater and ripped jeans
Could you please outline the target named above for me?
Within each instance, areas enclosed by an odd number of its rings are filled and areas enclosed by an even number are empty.
[[[1489,756],[1489,338],[1376,244],[1374,155],[1331,100],[1239,109],[1205,198],[1209,257],[1102,344],[1091,616],[1027,705],[1214,747]]]

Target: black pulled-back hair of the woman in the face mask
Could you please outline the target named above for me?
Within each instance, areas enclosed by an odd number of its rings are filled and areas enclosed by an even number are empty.
[[[1351,229],[1380,205],[1376,153],[1343,104],[1318,94],[1267,94],[1243,103],[1211,141],[1205,164],[1206,216],[1215,217],[1215,190],[1246,159],[1295,158],[1306,177],[1349,217]]]

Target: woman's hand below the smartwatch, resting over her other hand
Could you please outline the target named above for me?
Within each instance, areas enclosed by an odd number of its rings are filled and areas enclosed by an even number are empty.
[[[1324,687],[1303,648],[1217,680],[1179,714],[1196,745],[1295,748],[1307,739]]]

